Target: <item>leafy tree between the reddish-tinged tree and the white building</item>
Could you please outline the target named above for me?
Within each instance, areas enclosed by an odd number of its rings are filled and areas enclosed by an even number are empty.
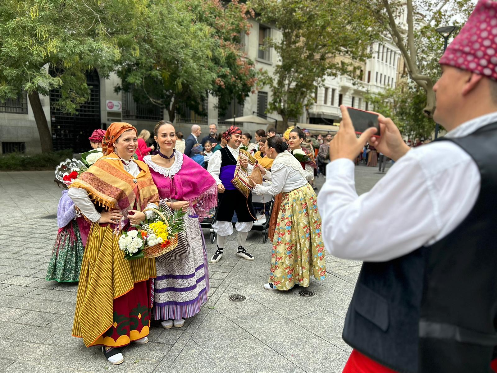
[[[267,72],[261,78],[272,92],[268,111],[283,118],[301,115],[314,103],[316,86],[325,76],[354,76],[353,61],[363,61],[368,47],[380,37],[375,19],[364,6],[365,1],[338,0],[252,0],[249,6],[258,19],[274,25],[281,38],[267,40],[279,60],[274,77]],[[349,59],[342,58],[343,56]]]

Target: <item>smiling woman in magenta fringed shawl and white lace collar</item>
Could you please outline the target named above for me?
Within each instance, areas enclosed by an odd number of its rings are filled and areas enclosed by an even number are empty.
[[[157,279],[154,285],[154,317],[163,320],[166,329],[180,328],[186,317],[200,311],[207,301],[209,272],[204,235],[199,218],[217,205],[214,178],[187,156],[174,150],[176,133],[172,124],[157,123],[155,140],[159,154],[144,157],[150,168],[161,200],[172,210],[188,211],[185,215],[189,253],[173,262],[156,260]]]

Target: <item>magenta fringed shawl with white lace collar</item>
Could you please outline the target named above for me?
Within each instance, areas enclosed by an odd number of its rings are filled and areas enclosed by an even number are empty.
[[[189,201],[200,219],[217,206],[217,183],[203,167],[180,152],[174,152],[174,164],[166,169],[155,164],[151,156],[144,158],[149,165],[161,199]]]

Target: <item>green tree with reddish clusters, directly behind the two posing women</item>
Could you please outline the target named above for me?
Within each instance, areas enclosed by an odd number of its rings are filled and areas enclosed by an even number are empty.
[[[221,109],[234,97],[243,101],[256,83],[253,63],[240,48],[249,12],[238,1],[150,3],[131,44],[122,46],[117,90],[165,107],[171,121],[181,104],[205,114],[208,93],[218,97]]]

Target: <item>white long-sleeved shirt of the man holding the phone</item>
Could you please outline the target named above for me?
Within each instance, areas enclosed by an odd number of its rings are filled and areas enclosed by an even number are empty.
[[[496,122],[497,112],[465,122],[445,135],[467,136]],[[331,255],[385,262],[431,245],[466,218],[480,192],[475,161],[450,141],[416,147],[367,193],[357,195],[354,163],[327,166],[318,195],[323,240]]]

